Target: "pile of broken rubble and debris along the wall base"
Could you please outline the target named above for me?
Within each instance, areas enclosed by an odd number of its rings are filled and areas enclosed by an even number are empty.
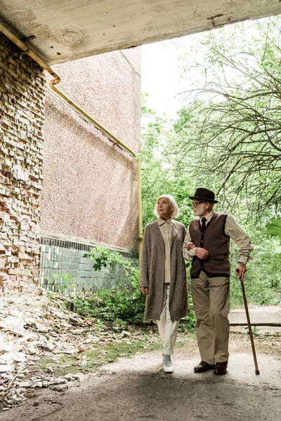
[[[78,316],[65,308],[61,300],[49,297],[45,290],[40,292],[41,295],[4,298],[1,302],[0,410],[36,396],[36,389],[49,387],[65,392],[67,383],[79,380],[79,374],[54,375],[55,368],[72,368],[73,364],[64,365],[64,356],[73,356],[76,372],[83,371],[87,363],[83,353],[95,349],[97,344],[147,341],[141,330],[129,333],[123,330],[124,326],[112,328],[93,318]]]

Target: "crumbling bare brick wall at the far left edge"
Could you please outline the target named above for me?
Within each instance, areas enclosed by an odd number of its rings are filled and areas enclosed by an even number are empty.
[[[44,74],[0,35],[0,294],[30,292],[39,276]]]

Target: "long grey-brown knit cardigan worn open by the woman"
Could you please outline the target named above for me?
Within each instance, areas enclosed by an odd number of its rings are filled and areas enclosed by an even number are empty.
[[[178,320],[188,312],[188,288],[183,240],[186,229],[181,222],[173,220],[171,234],[171,279],[169,310],[171,320]],[[157,220],[145,227],[141,253],[140,286],[148,287],[145,319],[160,319],[165,276],[165,246]]]

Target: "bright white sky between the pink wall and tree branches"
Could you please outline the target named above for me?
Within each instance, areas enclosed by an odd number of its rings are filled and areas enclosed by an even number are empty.
[[[251,21],[235,25],[247,27],[246,36],[249,37],[250,42],[252,34],[254,34]],[[235,30],[235,25],[227,25],[224,30],[231,34]],[[177,39],[145,44],[141,47],[142,92],[149,94],[146,105],[157,114],[164,112],[168,119],[176,119],[177,110],[184,105],[183,95],[177,94],[188,90],[191,87],[190,81],[195,79],[200,81],[200,76],[197,73],[192,74],[190,70],[188,74],[183,74],[184,63],[189,60],[192,64],[192,60],[195,60],[192,47],[195,46],[200,36],[202,34],[191,34]],[[239,48],[238,45],[237,48]],[[184,53],[188,53],[188,58],[183,60],[181,56]],[[199,55],[196,55],[196,60],[204,60],[204,49],[200,50],[200,55],[200,59]]]

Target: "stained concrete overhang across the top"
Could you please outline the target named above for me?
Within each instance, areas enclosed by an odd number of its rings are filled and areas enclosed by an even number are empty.
[[[49,65],[280,13],[280,0],[0,1],[3,25]]]

